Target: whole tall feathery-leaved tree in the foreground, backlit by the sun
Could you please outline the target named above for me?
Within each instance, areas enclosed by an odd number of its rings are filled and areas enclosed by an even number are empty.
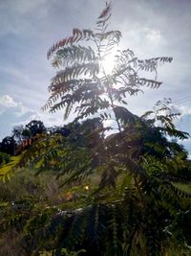
[[[51,96],[43,109],[64,109],[65,119],[74,110],[74,122],[98,114],[102,122],[116,122],[110,128],[118,129],[117,133],[102,137],[95,147],[74,145],[73,159],[68,158],[74,163],[73,168],[70,163],[62,171],[70,174],[65,183],[94,172],[100,174],[100,181],[91,197],[92,206],[66,219],[60,246],[85,246],[92,255],[91,248],[96,255],[160,255],[166,247],[162,229],[168,232],[174,223],[180,211],[179,197],[189,197],[172,182],[190,180],[190,162],[182,160],[182,150],[168,142],[165,135],[184,139],[188,134],[173,125],[177,115],[170,112],[169,102],[159,102],[141,118],[124,105],[128,95],[137,95],[144,86],[159,88],[158,66],[172,58],[138,59],[130,49],[117,50],[114,68],[108,74],[104,59],[116,51],[121,38],[119,31],[109,30],[110,18],[111,3],[106,3],[96,20],[95,31],[74,29],[71,36],[55,43],[47,55],[59,71],[49,86]],[[154,79],[148,79],[147,72],[153,73]],[[156,121],[160,126],[156,127]],[[104,128],[90,131],[89,139],[97,132],[104,132]],[[182,169],[189,173],[186,178]],[[130,185],[128,175],[132,178]],[[118,182],[125,187],[119,195]],[[113,196],[108,196],[108,189]],[[59,255],[59,248],[55,251]]]

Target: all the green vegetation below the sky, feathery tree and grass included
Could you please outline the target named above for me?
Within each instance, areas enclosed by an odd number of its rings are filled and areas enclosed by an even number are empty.
[[[140,117],[125,107],[127,95],[159,87],[158,65],[172,58],[118,51],[108,75],[103,59],[121,37],[108,31],[110,17],[107,4],[95,32],[74,29],[48,52],[62,69],[44,109],[74,110],[74,122],[32,121],[3,143],[15,162],[3,162],[1,178],[18,174],[0,184],[2,255],[191,253],[191,161],[177,142],[189,134],[175,127],[169,100]]]

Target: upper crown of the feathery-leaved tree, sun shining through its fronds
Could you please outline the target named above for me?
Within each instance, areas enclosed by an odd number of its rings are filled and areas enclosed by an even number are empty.
[[[102,119],[115,118],[121,131],[120,113],[124,110],[126,96],[136,95],[144,86],[159,88],[158,65],[171,62],[172,58],[138,59],[130,49],[117,50],[115,65],[107,74],[104,59],[116,51],[121,38],[119,31],[108,29],[111,3],[96,20],[96,31],[74,29],[73,35],[56,42],[47,57],[59,71],[53,77],[49,91],[51,96],[43,109],[51,112],[63,108],[65,119],[74,108],[76,119],[112,109],[115,117],[101,114]],[[138,72],[154,72],[155,79],[140,77]],[[127,112],[127,111],[126,111]]]

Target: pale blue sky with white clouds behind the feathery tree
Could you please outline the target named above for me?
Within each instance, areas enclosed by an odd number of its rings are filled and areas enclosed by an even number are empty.
[[[55,74],[47,51],[73,28],[94,29],[104,6],[103,0],[0,0],[0,139],[32,119],[64,124],[62,112],[40,110]],[[159,68],[160,88],[145,88],[129,99],[129,109],[142,114],[171,98],[181,113],[178,128],[191,133],[190,12],[190,0],[114,0],[111,28],[122,33],[120,48],[138,58],[173,57]],[[183,144],[191,151],[191,140]]]

